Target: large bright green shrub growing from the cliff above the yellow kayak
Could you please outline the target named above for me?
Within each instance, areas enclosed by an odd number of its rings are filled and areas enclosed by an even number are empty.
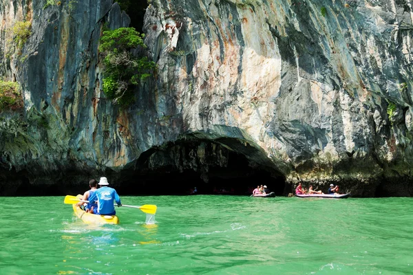
[[[132,49],[146,47],[144,37],[134,28],[119,28],[104,31],[100,39],[99,51],[105,65],[103,91],[123,107],[133,101],[135,87],[151,76],[156,67],[146,56],[131,53]]]

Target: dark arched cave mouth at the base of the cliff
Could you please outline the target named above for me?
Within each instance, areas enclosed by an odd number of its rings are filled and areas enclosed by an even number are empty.
[[[285,177],[264,159],[235,139],[182,140],[142,153],[116,189],[123,195],[189,195],[195,187],[204,195],[250,195],[262,184],[285,195]]]

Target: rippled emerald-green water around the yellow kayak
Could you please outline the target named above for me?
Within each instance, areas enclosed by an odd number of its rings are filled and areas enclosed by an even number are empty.
[[[121,197],[156,224],[77,219],[63,197],[2,197],[0,274],[413,274],[410,198]]]

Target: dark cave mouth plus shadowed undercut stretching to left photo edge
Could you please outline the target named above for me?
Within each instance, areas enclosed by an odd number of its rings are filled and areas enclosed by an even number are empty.
[[[266,185],[275,195],[288,194],[285,177],[260,148],[245,140],[209,140],[187,136],[143,152],[120,171],[77,170],[75,164],[55,175],[33,176],[26,170],[1,170],[0,196],[64,196],[83,194],[89,179],[107,177],[120,196],[189,195],[193,188],[204,195],[251,195]],[[30,177],[32,176],[32,177]],[[36,179],[30,182],[31,179]]]

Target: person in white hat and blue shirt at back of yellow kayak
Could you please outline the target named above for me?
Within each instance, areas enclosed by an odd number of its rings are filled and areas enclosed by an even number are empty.
[[[118,206],[122,206],[120,197],[114,188],[108,187],[106,177],[100,177],[98,183],[100,188],[93,193],[92,197],[89,197],[89,201],[98,201],[97,208],[92,208],[94,214],[114,215],[116,214],[114,201]]]

